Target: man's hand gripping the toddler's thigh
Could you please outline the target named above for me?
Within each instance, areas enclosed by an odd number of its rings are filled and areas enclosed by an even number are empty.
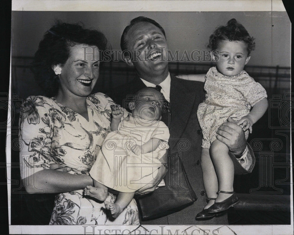
[[[243,129],[236,122],[228,118],[216,131],[216,138],[228,146],[235,155],[242,154],[246,148],[246,139]]]

